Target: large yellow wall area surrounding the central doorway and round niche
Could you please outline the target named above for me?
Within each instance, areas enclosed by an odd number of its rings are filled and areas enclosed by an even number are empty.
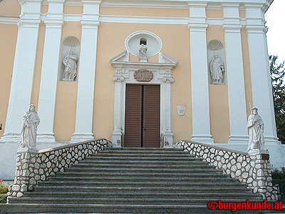
[[[124,31],[121,31],[124,29]],[[191,80],[190,80],[190,43],[189,29],[182,25],[163,24],[114,24],[102,23],[98,34],[98,54],[95,79],[95,102],[93,131],[96,137],[111,138],[113,131],[114,82],[115,68],[109,60],[125,50],[125,38],[134,31],[151,31],[162,39],[162,52],[179,61],[173,70],[175,82],[172,83],[172,127],[175,141],[190,138],[191,123]],[[177,32],[180,32],[177,35]],[[116,39],[113,39],[116,35]],[[130,55],[130,61],[138,57]],[[157,62],[157,56],[150,61]],[[188,88],[189,90],[187,90]],[[185,116],[178,116],[176,106],[186,105]]]

